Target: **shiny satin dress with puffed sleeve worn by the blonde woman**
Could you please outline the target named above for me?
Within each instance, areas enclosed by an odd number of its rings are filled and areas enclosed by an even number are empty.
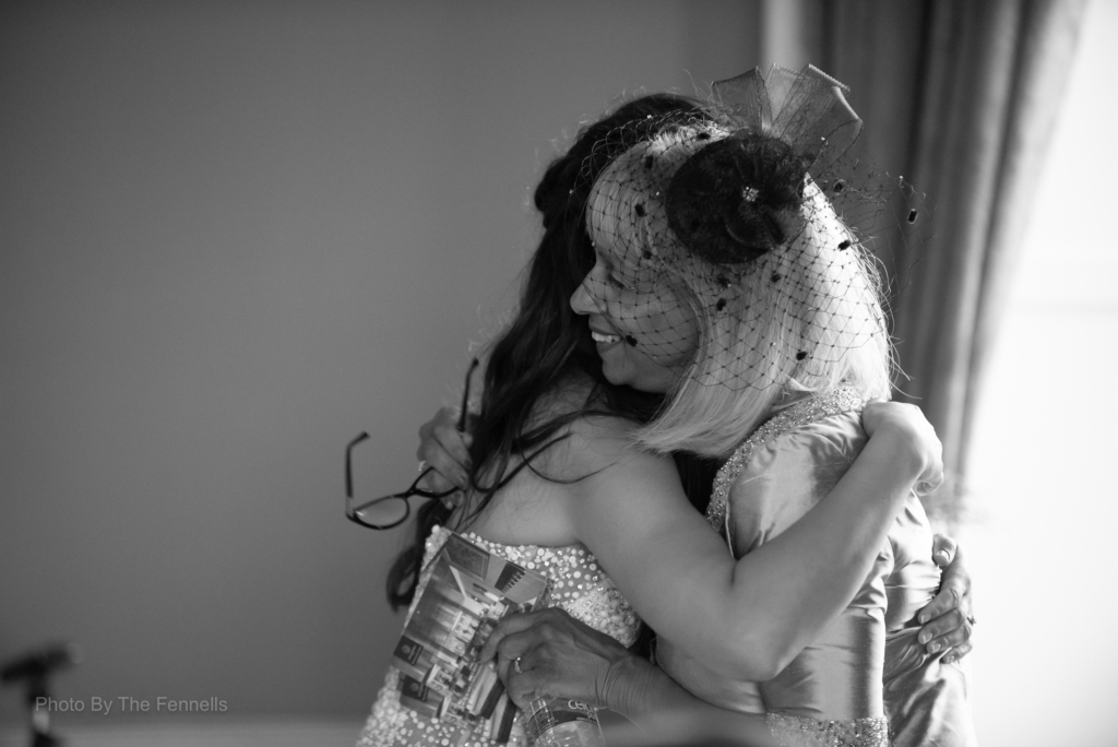
[[[863,401],[849,388],[802,400],[760,426],[722,466],[708,509],[736,557],[795,523],[839,482],[865,445]],[[694,694],[764,712],[781,744],[973,747],[966,672],[926,653],[917,612],[939,587],[919,499],[906,501],[851,604],[777,677],[729,681],[670,641],[661,665]],[[789,569],[795,573],[795,569]]]

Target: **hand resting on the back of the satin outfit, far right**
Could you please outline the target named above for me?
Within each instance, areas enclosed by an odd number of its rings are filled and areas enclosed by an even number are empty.
[[[950,663],[970,653],[974,647],[974,606],[970,597],[970,574],[963,560],[963,549],[945,535],[936,535],[931,557],[944,568],[939,593],[920,611],[923,626],[918,640],[928,653],[947,651],[944,661]],[[949,651],[948,651],[949,650]]]

